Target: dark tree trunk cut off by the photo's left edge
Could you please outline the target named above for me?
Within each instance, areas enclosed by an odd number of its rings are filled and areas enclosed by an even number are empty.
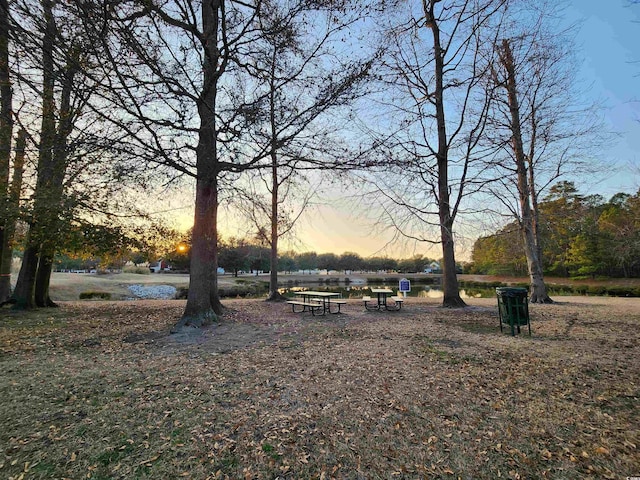
[[[0,0],[0,304],[11,295],[11,243],[9,231],[9,161],[13,135],[12,92],[9,76],[9,5]],[[8,260],[8,265],[5,263]]]

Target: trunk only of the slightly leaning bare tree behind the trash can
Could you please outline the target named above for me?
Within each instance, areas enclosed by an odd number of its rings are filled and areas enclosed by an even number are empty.
[[[538,254],[538,242],[535,235],[535,222],[530,204],[530,186],[527,178],[527,164],[522,143],[522,129],[520,124],[520,106],[518,104],[518,90],[516,85],[515,66],[511,46],[507,40],[502,41],[500,49],[500,62],[504,66],[506,76],[506,89],[508,93],[509,111],[511,114],[512,148],[516,161],[516,174],[518,176],[518,197],[522,218],[520,219],[520,231],[524,240],[527,268],[531,282],[529,301],[531,303],[551,303],[547,294],[542,273],[542,262]],[[531,168],[531,166],[530,166]]]

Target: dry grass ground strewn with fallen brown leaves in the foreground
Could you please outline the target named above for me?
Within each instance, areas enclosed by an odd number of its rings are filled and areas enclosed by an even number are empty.
[[[640,302],[495,300],[293,314],[227,301],[83,302],[0,322],[2,478],[624,478],[640,475]]]

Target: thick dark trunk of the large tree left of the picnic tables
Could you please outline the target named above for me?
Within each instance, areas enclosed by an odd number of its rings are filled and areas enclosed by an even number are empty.
[[[189,294],[182,318],[173,328],[210,325],[222,314],[218,295],[218,152],[216,129],[217,82],[224,70],[218,50],[224,0],[202,2],[204,83],[198,99],[200,130],[196,148],[196,205],[189,271]],[[224,22],[223,22],[224,23]],[[224,24],[222,25],[224,29]],[[224,33],[223,33],[224,35]]]

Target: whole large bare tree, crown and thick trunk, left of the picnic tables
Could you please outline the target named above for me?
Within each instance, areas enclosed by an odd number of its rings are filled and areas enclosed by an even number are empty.
[[[216,275],[221,181],[250,165],[229,147],[237,117],[226,116],[221,105],[234,90],[227,72],[250,67],[243,62],[257,36],[259,7],[260,1],[240,0],[87,6],[86,28],[102,38],[100,48],[115,69],[105,84],[105,101],[116,110],[110,120],[150,165],[195,179],[190,287],[176,330],[209,324],[222,313]]]

